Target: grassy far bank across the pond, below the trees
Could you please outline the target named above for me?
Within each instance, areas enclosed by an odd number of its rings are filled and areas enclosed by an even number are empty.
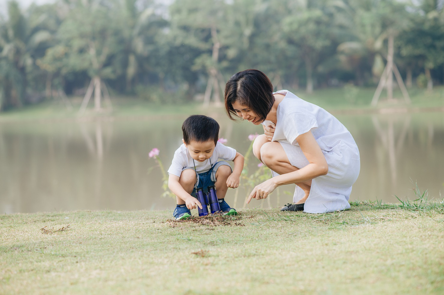
[[[381,96],[377,106],[371,106],[374,88],[366,87],[332,87],[315,90],[312,94],[293,90],[302,99],[313,102],[332,114],[386,114],[444,111],[444,86],[437,86],[433,91],[412,88],[409,90],[411,103],[406,104],[400,90],[394,92],[396,98],[387,102]],[[203,106],[202,102],[168,102],[153,103],[135,97],[113,97],[112,106],[103,106],[97,112],[92,102],[89,108],[79,114],[82,97],[69,98],[70,103],[54,98],[40,104],[0,113],[0,122],[17,121],[88,121],[96,118],[114,120],[143,120],[157,117],[177,118],[188,114],[208,114],[213,117],[225,116],[223,106]]]

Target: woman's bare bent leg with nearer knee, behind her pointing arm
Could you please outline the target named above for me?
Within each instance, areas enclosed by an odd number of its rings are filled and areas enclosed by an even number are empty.
[[[265,137],[265,136],[264,136]],[[259,137],[258,137],[259,138]],[[290,173],[298,170],[299,168],[290,164],[290,161],[285,153],[284,148],[279,142],[265,142],[260,148],[261,161],[271,170],[278,174]],[[297,202],[297,204],[304,203],[307,200],[310,188],[311,180],[305,182],[296,183],[304,191],[304,197]]]

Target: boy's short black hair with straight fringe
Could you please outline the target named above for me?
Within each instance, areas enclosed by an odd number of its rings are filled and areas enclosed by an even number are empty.
[[[219,124],[213,118],[204,115],[191,115],[182,124],[183,141],[206,142],[214,140],[217,144],[219,139]]]

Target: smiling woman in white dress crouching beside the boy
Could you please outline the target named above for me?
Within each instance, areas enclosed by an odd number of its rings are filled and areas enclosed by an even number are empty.
[[[332,114],[288,90],[273,92],[258,70],[233,75],[225,87],[228,116],[236,115],[264,134],[253,144],[254,155],[274,171],[248,197],[265,199],[280,185],[295,183],[293,203],[282,210],[325,213],[349,209],[359,169],[359,150],[350,132]]]

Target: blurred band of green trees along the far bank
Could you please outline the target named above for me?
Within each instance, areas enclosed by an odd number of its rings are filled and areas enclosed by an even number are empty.
[[[277,88],[376,86],[389,36],[408,85],[418,76],[430,89],[443,83],[440,0],[58,0],[27,9],[11,0],[0,16],[0,110],[53,90],[81,93],[91,80],[152,100],[158,91],[217,102],[246,68]]]

